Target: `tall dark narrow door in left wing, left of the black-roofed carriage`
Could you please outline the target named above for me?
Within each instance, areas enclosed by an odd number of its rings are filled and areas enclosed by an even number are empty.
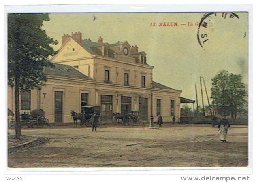
[[[63,122],[63,92],[54,92],[54,122]]]

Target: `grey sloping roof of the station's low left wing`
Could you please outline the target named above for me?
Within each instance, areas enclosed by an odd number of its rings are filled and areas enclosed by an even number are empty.
[[[54,67],[45,67],[44,73],[51,76],[64,76],[92,80],[89,76],[79,72],[73,66],[53,63]]]

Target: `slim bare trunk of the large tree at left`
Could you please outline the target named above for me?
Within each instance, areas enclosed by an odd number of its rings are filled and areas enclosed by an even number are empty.
[[[15,78],[15,137],[21,137],[21,120],[19,114],[19,78]]]

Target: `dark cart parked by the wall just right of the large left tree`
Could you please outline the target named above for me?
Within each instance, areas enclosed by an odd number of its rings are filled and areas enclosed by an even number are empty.
[[[35,109],[31,112],[24,112],[21,114],[21,121],[22,125],[26,125],[29,128],[33,126],[49,126],[49,120],[45,118],[45,111],[43,109]]]

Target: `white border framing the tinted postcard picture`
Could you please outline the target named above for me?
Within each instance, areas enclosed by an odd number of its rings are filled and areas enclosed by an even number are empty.
[[[250,174],[252,172],[252,7],[250,4],[75,4],[6,5],[4,8],[4,45],[7,45],[7,13],[103,13],[103,12],[248,12],[249,22],[249,118],[248,167],[141,167],[141,168],[8,168],[7,140],[4,147],[6,174]],[[7,46],[4,47],[4,109],[7,108]],[[4,110],[2,109],[2,110]],[[4,121],[7,110],[4,110]],[[7,136],[6,122],[2,122]]]

